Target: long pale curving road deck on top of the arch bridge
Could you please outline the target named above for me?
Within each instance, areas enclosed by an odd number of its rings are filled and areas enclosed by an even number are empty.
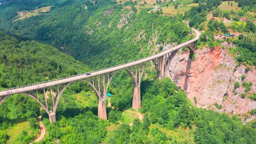
[[[80,80],[80,79],[89,78],[89,77],[92,77],[92,76],[95,76],[95,75],[102,75],[104,73],[114,72],[114,71],[117,71],[117,70],[120,70],[120,69],[125,69],[127,67],[130,67],[132,65],[137,65],[137,64],[142,63],[142,62],[148,62],[152,59],[156,59],[160,56],[164,56],[164,55],[166,55],[166,54],[168,54],[168,53],[170,53],[174,50],[181,49],[182,47],[187,46],[188,44],[197,41],[199,39],[200,32],[197,31],[197,29],[194,29],[194,28],[192,28],[192,29],[197,34],[196,38],[191,39],[191,40],[189,40],[185,43],[182,43],[178,46],[175,46],[171,49],[167,49],[163,52],[159,52],[155,55],[148,56],[148,57],[145,57],[145,58],[142,58],[142,59],[137,59],[135,61],[127,62],[127,63],[124,63],[124,64],[115,65],[115,66],[112,66],[111,68],[105,68],[105,69],[99,69],[99,70],[96,70],[96,71],[93,71],[93,72],[87,72],[87,73],[90,73],[91,75],[86,75],[85,73],[83,73],[83,74],[72,75],[72,76],[69,76],[69,77],[56,79],[56,80],[51,80],[51,81],[47,81],[47,82],[40,82],[40,83],[31,84],[31,85],[24,85],[24,86],[20,86],[20,87],[16,87],[16,88],[3,89],[3,90],[0,90],[0,96],[13,95],[13,94],[21,93],[21,92],[28,92],[28,91],[32,91],[32,90],[36,90],[36,89],[47,88],[47,87],[54,86],[54,85],[59,85],[59,84],[63,84],[63,83],[77,81],[77,80]]]

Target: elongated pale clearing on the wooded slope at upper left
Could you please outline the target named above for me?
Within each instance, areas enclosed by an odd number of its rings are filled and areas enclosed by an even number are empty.
[[[18,12],[18,16],[16,16],[16,19],[14,21],[24,20],[31,16],[37,16],[37,15],[40,15],[43,13],[48,13],[51,10],[51,7],[54,7],[54,6],[41,7],[41,8],[37,8],[35,10],[31,10],[31,11],[28,11],[28,10],[20,11],[20,12]]]

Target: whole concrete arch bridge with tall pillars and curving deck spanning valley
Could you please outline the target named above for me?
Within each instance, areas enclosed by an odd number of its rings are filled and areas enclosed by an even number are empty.
[[[98,98],[98,117],[107,119],[107,112],[105,107],[106,92],[108,91],[109,84],[113,76],[121,69],[125,69],[131,76],[133,82],[133,101],[132,108],[138,110],[141,107],[141,79],[144,70],[148,62],[153,62],[157,71],[159,79],[164,79],[167,69],[171,63],[171,60],[176,55],[179,49],[188,47],[191,53],[195,52],[195,45],[199,39],[200,32],[197,29],[192,28],[196,33],[196,37],[171,49],[167,49],[163,52],[159,52],[152,56],[148,56],[142,59],[138,59],[132,62],[127,62],[120,65],[115,65],[109,68],[96,70],[93,72],[87,72],[79,75],[72,75],[66,78],[51,80],[47,82],[40,82],[31,85],[24,85],[16,88],[8,88],[0,90],[0,105],[3,101],[13,94],[25,94],[35,99],[49,115],[50,122],[56,121],[56,109],[59,103],[59,99],[62,96],[65,89],[76,81],[83,81],[88,83]],[[47,105],[46,89],[50,91],[51,106]],[[53,95],[53,91],[55,94]],[[39,93],[43,93],[44,100],[39,99]]]

